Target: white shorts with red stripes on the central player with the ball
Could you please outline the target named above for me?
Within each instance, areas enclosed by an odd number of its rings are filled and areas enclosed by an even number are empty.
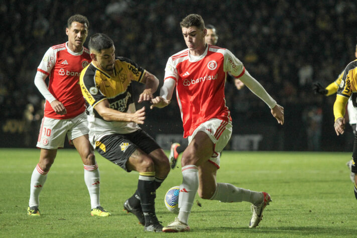
[[[201,125],[194,130],[191,136],[188,137],[188,144],[191,143],[192,138],[194,138],[197,132],[204,132],[208,135],[214,144],[214,152],[209,162],[214,164],[219,169],[220,162],[220,152],[228,144],[230,136],[232,135],[232,124],[231,122],[225,122],[223,120],[213,118]]]

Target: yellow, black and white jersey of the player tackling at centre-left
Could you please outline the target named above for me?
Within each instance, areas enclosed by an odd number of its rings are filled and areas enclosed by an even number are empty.
[[[95,67],[93,63],[82,70],[79,83],[87,103],[89,138],[93,145],[106,135],[128,134],[139,129],[136,123],[105,121],[94,107],[106,99],[110,108],[134,113],[136,110],[132,81],[142,82],[144,74],[145,69],[124,57],[116,58],[113,76]]]

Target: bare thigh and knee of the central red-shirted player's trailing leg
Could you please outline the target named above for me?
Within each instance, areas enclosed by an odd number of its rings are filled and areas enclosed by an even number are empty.
[[[217,187],[216,175],[217,167],[210,161],[206,161],[198,166],[198,195],[204,199],[210,199]]]

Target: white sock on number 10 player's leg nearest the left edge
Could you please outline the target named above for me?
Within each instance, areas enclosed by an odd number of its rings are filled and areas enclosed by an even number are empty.
[[[40,205],[39,196],[43,185],[46,182],[47,173],[48,171],[43,171],[38,164],[32,172],[29,207]]]

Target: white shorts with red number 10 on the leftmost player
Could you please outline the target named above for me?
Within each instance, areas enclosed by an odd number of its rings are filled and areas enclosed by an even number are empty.
[[[71,141],[89,133],[85,112],[68,119],[43,117],[37,147],[43,149],[63,148],[66,134]]]

